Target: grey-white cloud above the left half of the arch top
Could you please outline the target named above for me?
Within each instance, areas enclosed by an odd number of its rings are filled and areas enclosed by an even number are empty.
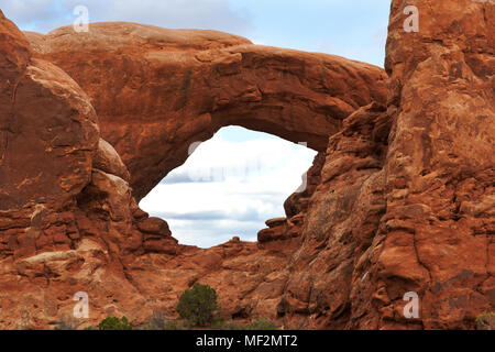
[[[90,22],[129,21],[176,29],[208,29],[248,34],[249,12],[234,11],[229,0],[2,0],[1,8],[21,30],[48,32],[70,24],[76,6]]]

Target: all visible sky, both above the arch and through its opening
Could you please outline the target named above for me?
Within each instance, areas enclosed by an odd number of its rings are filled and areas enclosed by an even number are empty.
[[[320,52],[383,67],[389,0],[0,0],[23,31],[72,24],[85,6],[89,22],[130,21],[208,29],[255,44]],[[167,220],[180,243],[201,248],[233,235],[255,241],[264,221],[301,184],[315,156],[302,145],[239,127],[221,129],[174,169],[140,206]]]

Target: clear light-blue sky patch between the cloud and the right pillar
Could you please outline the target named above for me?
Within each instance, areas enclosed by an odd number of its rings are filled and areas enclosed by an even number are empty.
[[[248,37],[262,44],[321,52],[383,67],[388,0],[232,1],[248,9]]]

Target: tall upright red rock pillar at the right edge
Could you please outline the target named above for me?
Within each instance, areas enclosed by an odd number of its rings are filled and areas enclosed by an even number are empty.
[[[415,3],[418,33],[393,1],[387,42],[387,210],[376,287],[396,327],[397,282],[421,297],[422,328],[472,328],[495,305],[495,6]]]

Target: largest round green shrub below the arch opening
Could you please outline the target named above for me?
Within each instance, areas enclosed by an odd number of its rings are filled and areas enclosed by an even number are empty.
[[[180,296],[177,312],[193,327],[205,327],[215,319],[217,293],[208,285],[195,284]]]

